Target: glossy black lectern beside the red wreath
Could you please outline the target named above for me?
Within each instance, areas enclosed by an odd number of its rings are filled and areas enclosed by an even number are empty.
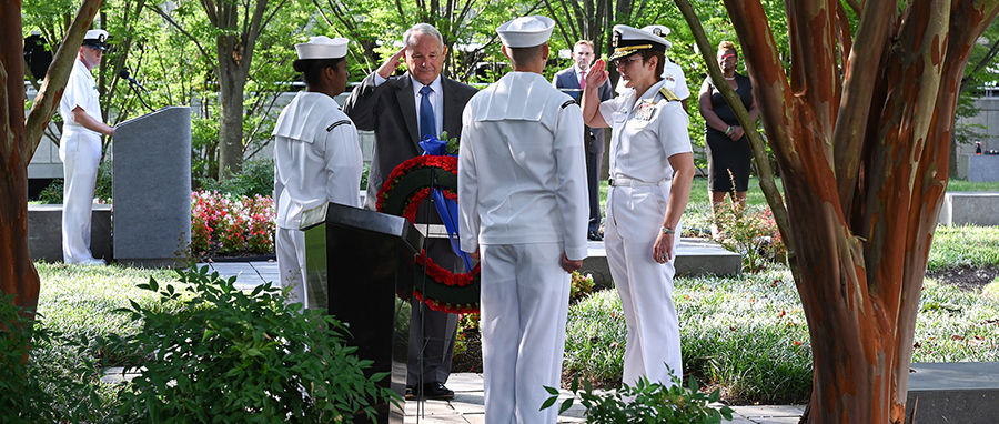
[[[307,210],[305,280],[309,309],[324,309],[347,323],[347,343],[374,363],[366,375],[390,372],[381,381],[400,396],[406,388],[408,300],[423,234],[404,218],[336,203]],[[377,405],[379,423],[402,424],[404,411]]]

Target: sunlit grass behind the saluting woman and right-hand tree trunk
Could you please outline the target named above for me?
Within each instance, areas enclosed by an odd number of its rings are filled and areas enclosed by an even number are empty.
[[[790,272],[739,277],[678,277],[684,373],[738,403],[805,402],[811,347]],[[612,386],[619,382],[625,322],[617,292],[594,293],[569,309],[566,369]],[[999,297],[926,280],[914,362],[999,361]]]

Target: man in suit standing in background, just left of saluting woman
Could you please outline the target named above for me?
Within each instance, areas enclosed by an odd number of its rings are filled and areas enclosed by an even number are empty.
[[[573,65],[555,73],[552,85],[579,101],[583,92],[586,72],[593,64],[593,42],[588,40],[576,41],[573,46]],[[598,91],[601,101],[609,100],[613,95],[610,81],[605,81]],[[604,129],[586,127],[583,132],[586,143],[586,181],[589,192],[589,225],[586,229],[586,238],[593,241],[604,240],[601,236],[601,164],[604,160]]]

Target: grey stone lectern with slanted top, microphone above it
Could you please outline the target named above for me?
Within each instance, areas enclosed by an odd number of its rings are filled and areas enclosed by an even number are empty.
[[[111,152],[114,260],[185,265],[191,245],[191,108],[163,108],[118,124]]]

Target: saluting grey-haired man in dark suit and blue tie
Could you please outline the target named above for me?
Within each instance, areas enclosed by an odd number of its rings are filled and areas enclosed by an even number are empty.
[[[343,107],[357,129],[375,132],[364,200],[369,210],[375,210],[379,190],[392,170],[423,154],[420,141],[425,135],[440,137],[447,131],[448,138],[461,138],[462,111],[477,91],[441,75],[447,48],[436,28],[417,23],[406,30],[403,41],[405,47],[364,78]],[[392,77],[403,58],[407,72]],[[441,219],[433,205],[424,202],[416,222],[440,225]],[[466,272],[447,239],[427,239],[426,252],[442,267]],[[451,374],[457,315],[433,311],[415,300],[412,305],[406,398],[452,398],[454,392],[444,383]]]

